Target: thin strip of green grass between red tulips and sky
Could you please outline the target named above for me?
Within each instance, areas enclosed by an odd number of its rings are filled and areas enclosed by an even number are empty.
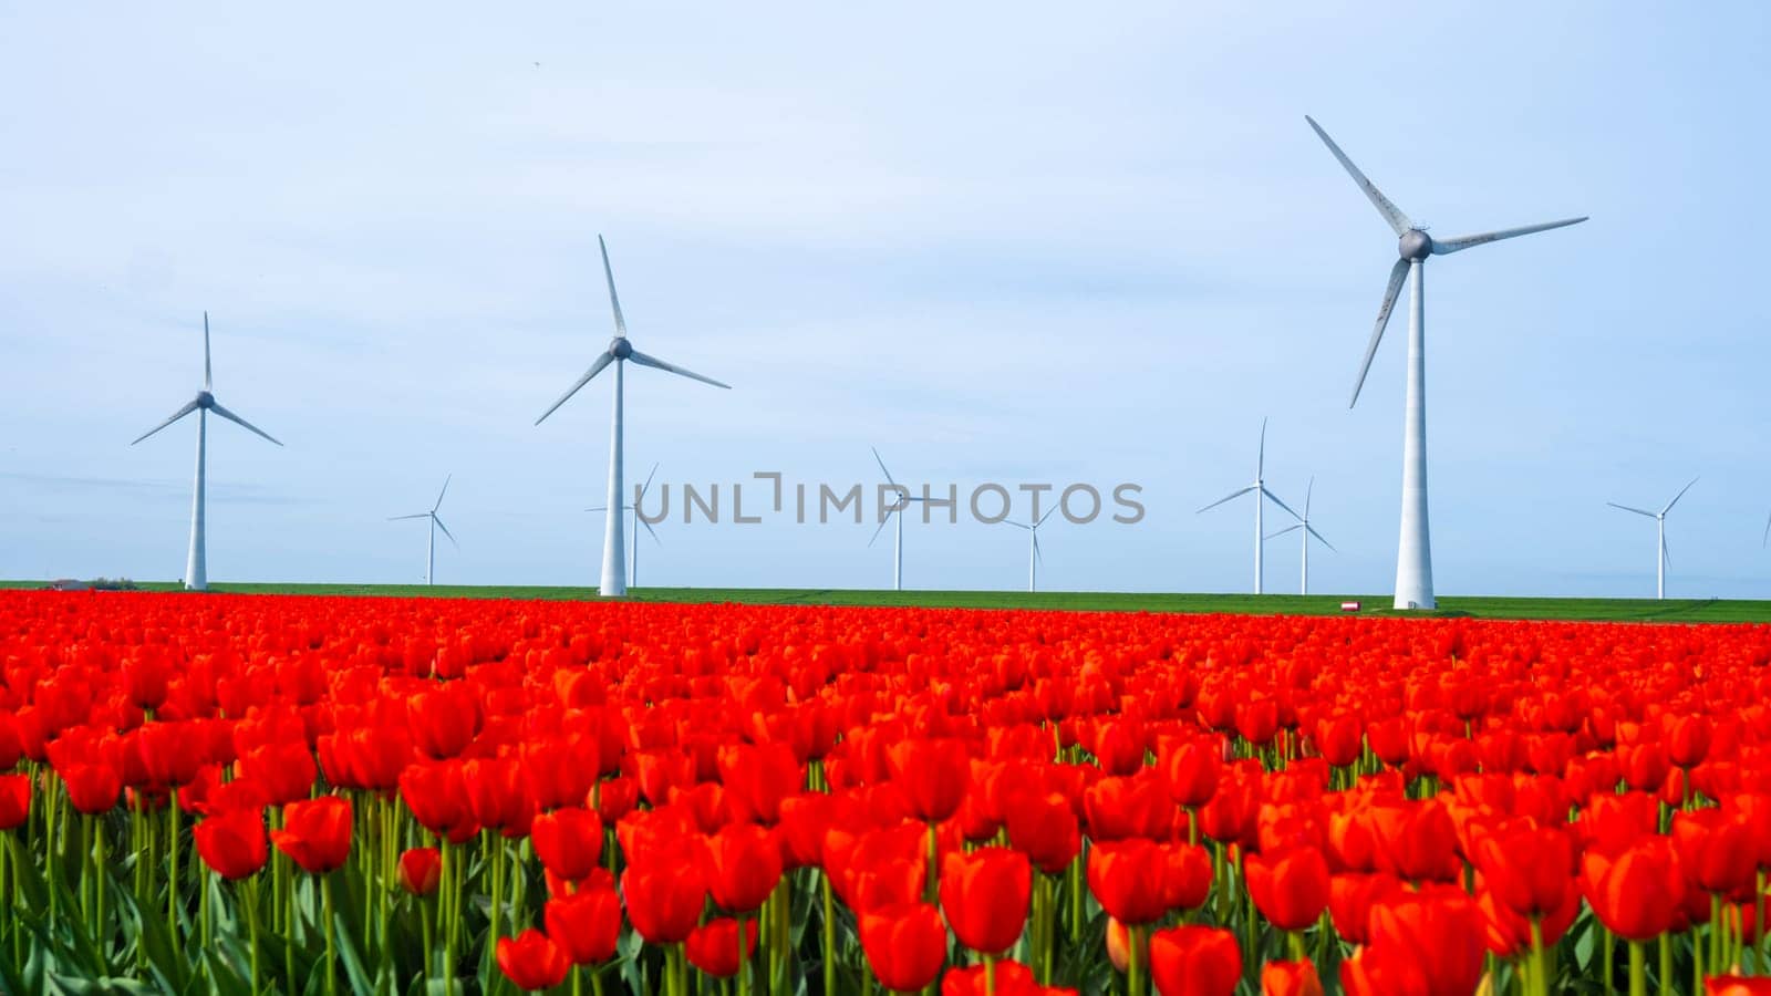
[[[41,581],[0,581],[4,588],[39,588]],[[172,581],[142,583],[142,590],[179,590]],[[595,599],[595,588],[457,587],[437,585],[213,585],[213,592],[243,595],[395,595],[441,599]],[[1587,619],[1619,622],[1771,622],[1771,601],[1728,599],[1511,599],[1443,597],[1436,613],[1397,613],[1387,595],[1204,595],[1125,592],[875,592],[843,588],[634,588],[630,601],[1032,608],[1071,611],[1227,611],[1245,615],[1341,615],[1344,599],[1365,604],[1365,615],[1470,615],[1481,619]]]

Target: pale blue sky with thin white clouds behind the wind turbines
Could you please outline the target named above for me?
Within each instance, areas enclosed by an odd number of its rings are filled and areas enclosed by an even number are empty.
[[[177,578],[200,383],[209,574],[593,583],[609,239],[629,464],[700,486],[1118,482],[1054,588],[1245,590],[1268,482],[1394,580],[1404,324],[1346,397],[1394,237],[1312,113],[1450,236],[1427,269],[1440,594],[1771,597],[1771,9],[1466,4],[0,9],[0,576]],[[1401,315],[1399,315],[1401,317]],[[751,494],[746,494],[749,505]],[[1282,525],[1270,510],[1270,526]],[[659,526],[641,583],[886,587],[873,526]],[[1296,546],[1268,546],[1295,590]],[[907,528],[909,587],[1025,581],[1018,530]]]

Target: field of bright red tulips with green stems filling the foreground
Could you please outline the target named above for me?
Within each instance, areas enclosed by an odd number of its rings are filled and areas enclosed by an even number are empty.
[[[1771,627],[0,592],[0,991],[1771,992]]]

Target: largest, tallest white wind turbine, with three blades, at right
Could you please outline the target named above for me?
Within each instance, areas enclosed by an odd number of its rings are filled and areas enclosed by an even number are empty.
[[[1311,128],[1328,145],[1334,158],[1341,161],[1341,167],[1346,168],[1353,183],[1371,198],[1378,214],[1383,214],[1390,230],[1401,239],[1397,243],[1401,259],[1390,268],[1390,284],[1383,289],[1383,303],[1378,307],[1378,324],[1371,331],[1371,344],[1365,346],[1365,360],[1358,367],[1358,381],[1353,383],[1353,401],[1348,402],[1348,408],[1358,402],[1358,390],[1365,386],[1365,374],[1371,372],[1371,358],[1378,353],[1383,328],[1390,323],[1390,310],[1396,307],[1396,296],[1403,289],[1403,278],[1408,278],[1408,402],[1403,420],[1403,533],[1396,551],[1396,608],[1433,608],[1433,548],[1427,539],[1426,285],[1422,284],[1426,261],[1431,255],[1450,255],[1486,243],[1562,229],[1587,218],[1564,218],[1560,222],[1525,225],[1523,229],[1500,229],[1496,232],[1459,236],[1445,241],[1435,239],[1427,236],[1424,225],[1410,222],[1408,214],[1403,214],[1396,204],[1390,204],[1388,197],[1383,197],[1365,179],[1365,174],[1358,172],[1353,160],[1346,158],[1346,152],[1334,144],[1334,138],[1328,138],[1328,133],[1316,124],[1316,119],[1303,115],[1303,121],[1311,122]]]

